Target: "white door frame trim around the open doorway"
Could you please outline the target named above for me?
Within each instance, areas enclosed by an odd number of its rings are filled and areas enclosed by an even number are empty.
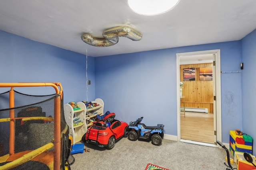
[[[176,54],[176,68],[177,68],[177,138],[180,141],[180,57],[187,55],[203,55],[203,54],[214,54],[215,55],[215,76],[216,76],[216,140],[222,141],[222,126],[221,126],[221,70],[220,70],[220,49],[206,50],[206,51],[194,51],[188,53],[177,53]],[[215,109],[215,108],[214,108]]]

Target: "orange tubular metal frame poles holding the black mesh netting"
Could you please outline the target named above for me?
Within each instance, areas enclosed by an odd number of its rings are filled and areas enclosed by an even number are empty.
[[[60,106],[63,98],[62,86],[59,82],[20,82],[20,83],[0,83],[0,87],[10,87],[10,108],[14,106],[14,87],[41,87],[52,86],[56,94],[60,94],[59,98],[54,100],[54,106]],[[60,107],[54,107],[54,170],[60,169],[60,149],[61,149],[61,135],[60,135]],[[10,143],[9,154],[14,154],[14,138],[15,138],[15,117],[14,109],[10,109]]]

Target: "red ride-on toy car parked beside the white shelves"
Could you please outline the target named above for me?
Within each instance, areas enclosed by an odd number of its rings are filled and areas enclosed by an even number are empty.
[[[110,113],[104,119],[95,121],[87,129],[84,135],[85,139],[83,139],[83,136],[82,141],[99,147],[107,147],[107,149],[114,148],[118,139],[128,137],[128,124],[114,119],[115,116],[115,113]]]

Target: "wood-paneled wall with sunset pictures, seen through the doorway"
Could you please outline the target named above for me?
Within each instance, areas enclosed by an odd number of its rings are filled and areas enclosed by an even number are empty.
[[[207,108],[213,113],[213,81],[200,81],[199,68],[212,67],[212,63],[180,65],[180,81],[183,81],[183,68],[195,68],[195,80],[186,81],[182,86],[185,107]]]

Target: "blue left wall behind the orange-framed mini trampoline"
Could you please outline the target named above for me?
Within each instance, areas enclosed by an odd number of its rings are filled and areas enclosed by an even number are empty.
[[[94,58],[88,57],[88,98],[95,98]],[[0,82],[60,82],[64,103],[86,100],[86,56],[0,31]],[[10,88],[0,88],[0,93]],[[14,88],[34,95],[53,88]],[[8,107],[8,106],[7,106]]]

